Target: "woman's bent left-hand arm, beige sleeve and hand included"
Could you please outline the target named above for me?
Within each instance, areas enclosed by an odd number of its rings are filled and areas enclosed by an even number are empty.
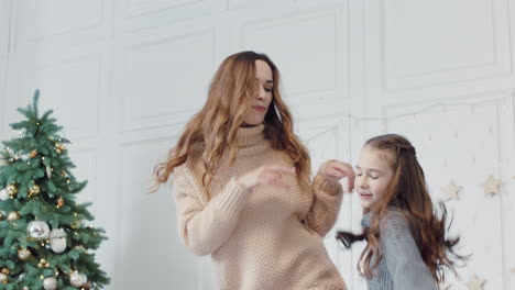
[[[175,169],[174,192],[178,228],[186,246],[196,255],[209,255],[223,245],[232,234],[246,197],[258,186],[288,188],[282,175],[294,175],[295,168],[262,166],[234,177],[221,192],[207,201],[205,189],[191,182],[194,175],[186,166]],[[200,183],[200,182],[196,182]]]

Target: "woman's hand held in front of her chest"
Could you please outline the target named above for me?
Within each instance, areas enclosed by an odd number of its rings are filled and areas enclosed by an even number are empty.
[[[294,174],[295,167],[262,166],[258,169],[242,175],[237,180],[237,182],[246,189],[253,189],[256,186],[289,188],[289,186],[282,179],[282,176]]]

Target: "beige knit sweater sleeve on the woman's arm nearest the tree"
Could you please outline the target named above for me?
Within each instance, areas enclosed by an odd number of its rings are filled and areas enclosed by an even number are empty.
[[[206,192],[193,186],[191,177],[184,166],[174,174],[177,227],[189,250],[199,256],[210,255],[229,239],[249,194],[233,177],[206,203],[201,198]]]

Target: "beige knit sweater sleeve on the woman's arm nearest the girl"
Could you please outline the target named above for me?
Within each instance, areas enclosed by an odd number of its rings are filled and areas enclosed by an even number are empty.
[[[314,201],[307,215],[307,223],[320,236],[326,236],[335,226],[343,199],[340,182],[331,182],[322,175],[315,176],[311,185]]]

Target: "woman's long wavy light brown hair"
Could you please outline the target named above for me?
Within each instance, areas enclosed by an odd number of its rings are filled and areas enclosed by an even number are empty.
[[[308,187],[310,161],[306,147],[294,134],[289,110],[281,98],[280,72],[265,54],[241,52],[227,57],[211,81],[207,102],[196,113],[173,147],[166,161],[154,168],[155,187],[167,182],[177,166],[186,163],[195,148],[201,148],[202,185],[206,189],[216,180],[215,167],[226,150],[230,163],[237,157],[235,135],[243,118],[258,96],[255,60],[269,64],[273,74],[272,103],[264,119],[264,134],[272,147],[286,153],[296,167],[300,185]],[[200,145],[200,146],[198,146]],[[197,152],[195,154],[198,154]],[[210,192],[207,190],[207,194]]]

